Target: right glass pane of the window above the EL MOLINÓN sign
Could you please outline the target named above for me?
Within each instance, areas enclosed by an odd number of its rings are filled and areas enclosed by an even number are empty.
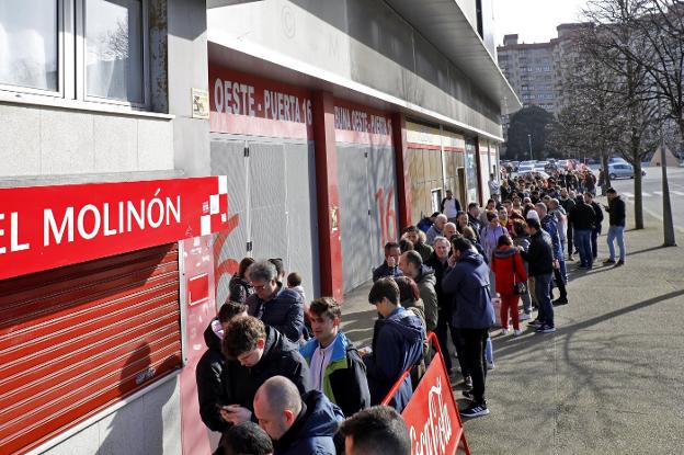
[[[86,93],[145,103],[142,3],[86,0]]]

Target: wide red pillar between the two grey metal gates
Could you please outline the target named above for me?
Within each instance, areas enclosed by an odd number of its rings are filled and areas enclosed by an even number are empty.
[[[314,93],[312,101],[321,294],[342,302],[342,239],[334,101],[332,93],[322,91]]]

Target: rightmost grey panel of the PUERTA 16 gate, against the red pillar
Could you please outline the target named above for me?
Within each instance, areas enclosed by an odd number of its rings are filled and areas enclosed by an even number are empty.
[[[287,174],[286,268],[301,274],[308,300],[320,295],[314,143],[285,144]]]

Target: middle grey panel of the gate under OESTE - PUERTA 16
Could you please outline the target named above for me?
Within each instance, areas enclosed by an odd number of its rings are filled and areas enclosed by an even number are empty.
[[[250,239],[258,259],[287,258],[287,185],[283,144],[249,145]]]

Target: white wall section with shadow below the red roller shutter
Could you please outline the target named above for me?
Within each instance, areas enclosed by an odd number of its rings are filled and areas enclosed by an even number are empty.
[[[181,455],[179,376],[43,452],[48,455]]]

